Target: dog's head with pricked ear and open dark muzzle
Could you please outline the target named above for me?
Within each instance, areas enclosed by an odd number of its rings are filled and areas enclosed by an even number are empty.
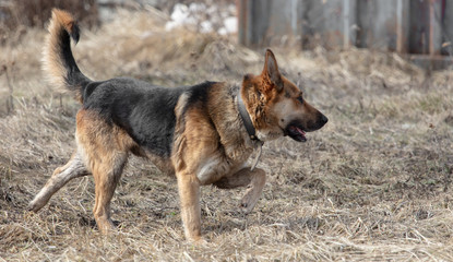
[[[300,88],[279,73],[270,49],[263,72],[243,78],[241,94],[261,141],[288,135],[305,142],[306,132],[318,130],[327,122],[323,114],[308,104]]]

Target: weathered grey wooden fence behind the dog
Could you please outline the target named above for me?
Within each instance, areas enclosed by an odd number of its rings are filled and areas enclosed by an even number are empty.
[[[247,46],[453,55],[453,0],[237,0]]]

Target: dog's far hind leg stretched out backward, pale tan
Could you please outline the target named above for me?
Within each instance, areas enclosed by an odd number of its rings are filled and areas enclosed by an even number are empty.
[[[49,199],[70,180],[90,175],[79,152],[75,152],[72,158],[64,166],[55,169],[53,175],[46,182],[46,186],[28,204],[28,210],[38,212],[47,204]]]

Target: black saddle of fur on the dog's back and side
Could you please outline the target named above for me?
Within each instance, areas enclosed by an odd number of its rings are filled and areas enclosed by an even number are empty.
[[[188,87],[164,88],[129,78],[93,84],[86,87],[84,110],[96,111],[106,122],[120,127],[148,153],[169,157],[174,108]]]

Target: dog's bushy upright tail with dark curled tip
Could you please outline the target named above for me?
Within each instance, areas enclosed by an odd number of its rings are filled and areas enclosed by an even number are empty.
[[[83,90],[92,81],[79,70],[72,56],[71,38],[76,44],[80,37],[76,21],[70,13],[53,9],[48,31],[43,69],[55,87],[73,92],[83,103]]]

